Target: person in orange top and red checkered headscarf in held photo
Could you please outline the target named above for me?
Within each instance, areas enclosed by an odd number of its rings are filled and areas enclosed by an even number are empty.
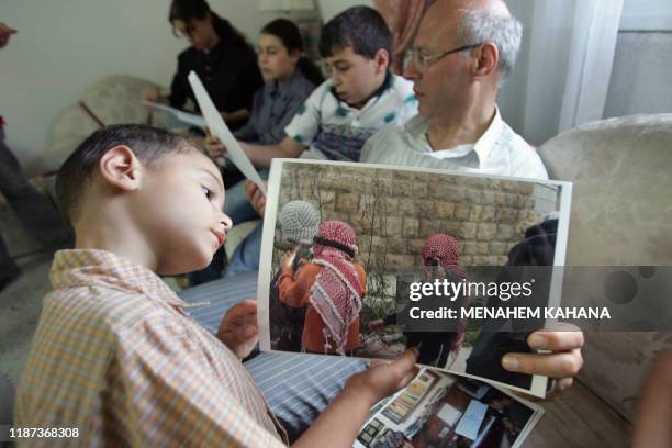
[[[357,235],[343,221],[326,221],[313,243],[313,260],[296,272],[295,254],[281,260],[280,300],[305,307],[301,336],[306,352],[351,355],[359,345],[359,311],[366,293],[366,272],[354,261]]]

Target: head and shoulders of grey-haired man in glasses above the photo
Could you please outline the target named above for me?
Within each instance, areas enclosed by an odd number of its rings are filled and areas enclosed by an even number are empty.
[[[503,1],[432,5],[403,65],[419,114],[404,128],[373,135],[361,161],[547,179],[535,149],[504,123],[495,104],[522,33]]]

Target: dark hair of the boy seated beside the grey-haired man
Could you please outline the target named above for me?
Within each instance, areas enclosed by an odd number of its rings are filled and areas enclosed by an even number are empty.
[[[373,8],[349,8],[322,29],[320,54],[329,57],[347,46],[368,59],[372,59],[381,48],[392,56],[392,33],[385,20]]]

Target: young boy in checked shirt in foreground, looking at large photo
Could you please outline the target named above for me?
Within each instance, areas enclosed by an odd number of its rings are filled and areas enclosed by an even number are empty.
[[[170,133],[116,125],[75,150],[57,191],[76,249],[54,259],[15,426],[77,428],[82,445],[283,445],[240,363],[257,341],[256,302],[235,305],[215,337],[158,277],[203,268],[224,242],[216,165]],[[370,406],[415,376],[415,359],[350,378],[295,446],[351,446]]]

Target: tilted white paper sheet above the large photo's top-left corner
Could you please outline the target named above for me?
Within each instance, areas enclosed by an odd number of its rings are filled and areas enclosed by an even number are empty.
[[[226,123],[224,123],[224,119],[222,119],[222,115],[220,115],[220,112],[212,102],[212,99],[208,94],[208,91],[205,90],[203,82],[201,82],[199,79],[199,76],[192,70],[189,72],[188,79],[189,83],[191,85],[191,89],[193,90],[193,94],[199,103],[199,108],[203,113],[203,117],[208,123],[208,127],[210,127],[210,133],[220,138],[222,144],[226,146],[228,158],[240,170],[243,176],[255,182],[266,195],[266,188],[264,187],[261,177],[255,169],[249,158],[247,158],[247,155],[240,145],[238,145],[238,142],[228,130]]]

